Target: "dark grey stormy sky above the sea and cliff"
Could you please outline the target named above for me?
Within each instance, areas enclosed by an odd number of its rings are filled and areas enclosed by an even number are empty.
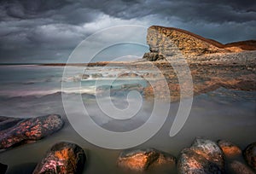
[[[0,0],[0,63],[66,62],[91,34],[119,25],[178,27],[224,44],[256,39],[256,1]],[[113,46],[96,60],[109,61],[121,49]]]

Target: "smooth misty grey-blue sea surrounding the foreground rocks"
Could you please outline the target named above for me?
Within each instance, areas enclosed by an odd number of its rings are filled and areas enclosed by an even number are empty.
[[[256,91],[229,90],[223,87],[193,97],[193,103],[182,129],[175,136],[169,136],[173,120],[177,115],[179,102],[160,102],[157,116],[150,119],[155,102],[143,98],[142,91],[115,93],[113,96],[99,95],[102,104],[97,102],[97,88],[118,90],[125,85],[145,87],[148,83],[142,78],[121,78],[113,82],[119,73],[131,70],[124,67],[66,67],[40,65],[0,66],[0,115],[15,118],[30,118],[50,113],[60,114],[65,120],[61,131],[34,143],[24,144],[0,152],[0,162],[9,165],[7,173],[32,173],[35,165],[44,157],[55,142],[74,142],[84,149],[87,156],[85,173],[137,173],[126,171],[116,165],[119,154],[126,148],[156,148],[178,157],[183,148],[188,148],[195,137],[213,141],[221,139],[236,143],[241,149],[256,141]],[[82,73],[81,73],[82,72]],[[135,72],[142,73],[142,72]],[[145,73],[145,72],[143,72]],[[87,74],[87,77],[83,77]],[[123,92],[123,93],[122,93]],[[78,97],[79,96],[79,97]],[[81,99],[80,101],[78,99]],[[69,106],[65,106],[65,102]],[[82,102],[86,111],[78,107]],[[129,108],[130,118],[122,113],[106,113],[104,106]],[[134,104],[135,103],[135,104]],[[137,109],[138,107],[138,109]],[[109,109],[108,109],[109,111]],[[167,111],[167,113],[166,113]],[[84,114],[87,114],[84,116]],[[114,114],[114,113],[113,113]],[[162,119],[161,117],[165,117]],[[86,117],[87,119],[83,119]],[[79,119],[80,118],[80,119]],[[82,119],[81,119],[82,118]],[[86,134],[97,137],[99,132],[90,128],[91,119],[103,130],[125,133],[135,131],[150,120],[148,132],[161,125],[154,135],[144,138],[137,134],[131,146],[125,146],[115,139],[113,144],[105,144],[108,136],[102,136],[102,144],[86,138]],[[84,132],[83,132],[84,131]],[[147,131],[147,130],[145,130]],[[141,137],[142,136],[142,137]],[[134,137],[134,136],[132,136]],[[137,142],[138,140],[144,140]],[[128,143],[129,142],[129,143]],[[134,145],[135,144],[135,145]],[[115,148],[111,148],[111,146]],[[117,148],[118,147],[118,148]],[[169,166],[148,168],[145,173],[177,173]]]

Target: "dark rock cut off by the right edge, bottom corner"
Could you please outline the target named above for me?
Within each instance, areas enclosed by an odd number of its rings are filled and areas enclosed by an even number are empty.
[[[256,171],[256,142],[247,146],[244,151],[244,157],[247,160],[248,165],[252,166]]]

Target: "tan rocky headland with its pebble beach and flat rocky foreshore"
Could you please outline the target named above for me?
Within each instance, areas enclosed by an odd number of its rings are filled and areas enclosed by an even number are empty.
[[[143,59],[137,61],[101,61],[79,65],[61,64],[61,66],[125,67],[130,73],[119,74],[116,78],[125,76],[154,79],[143,89],[143,95],[148,99],[156,97],[161,100],[171,97],[172,102],[180,100],[181,88],[185,94],[182,97],[200,95],[220,87],[232,90],[256,90],[256,40],[221,44],[182,29],[150,26],[147,44],[149,52],[143,55]],[[189,75],[192,83],[179,80],[177,69],[179,69],[179,77],[185,79]],[[155,70],[158,73],[150,73]],[[139,71],[148,71],[148,73],[137,73]],[[100,75],[97,74],[97,77]],[[89,76],[82,74],[79,80],[83,77]],[[170,92],[163,90],[166,83]],[[154,95],[154,91],[157,91],[157,95]]]

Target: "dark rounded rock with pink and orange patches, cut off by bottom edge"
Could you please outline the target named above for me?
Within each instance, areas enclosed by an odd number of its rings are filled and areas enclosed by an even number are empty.
[[[71,142],[58,142],[45,154],[33,174],[82,173],[86,156],[84,150]]]

